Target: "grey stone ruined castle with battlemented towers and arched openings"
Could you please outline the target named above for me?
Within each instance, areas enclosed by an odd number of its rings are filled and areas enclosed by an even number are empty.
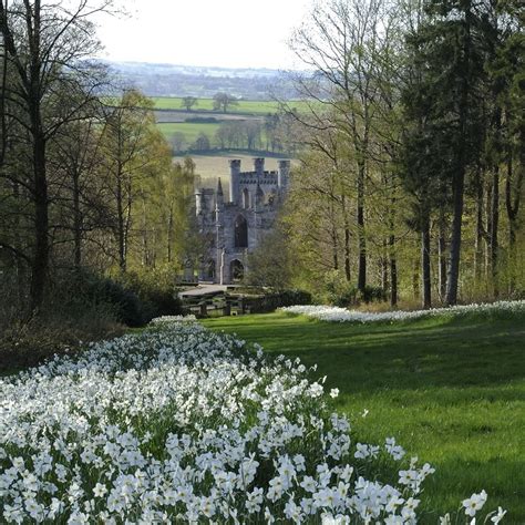
[[[290,161],[279,161],[276,172],[265,171],[265,159],[254,158],[251,172],[240,171],[240,161],[229,161],[229,202],[220,178],[217,188],[199,188],[197,223],[208,240],[199,280],[220,285],[240,281],[249,271],[248,254],[271,230],[288,186]]]

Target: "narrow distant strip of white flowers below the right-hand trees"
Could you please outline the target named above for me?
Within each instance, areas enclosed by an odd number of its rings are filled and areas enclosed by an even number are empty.
[[[297,313],[320,321],[329,322],[393,322],[421,319],[433,316],[464,316],[467,313],[497,313],[497,312],[525,312],[525,300],[498,301],[484,305],[457,305],[450,308],[432,308],[430,310],[395,310],[382,312],[366,312],[347,310],[346,308],[329,306],[292,306],[281,308],[282,311]]]

